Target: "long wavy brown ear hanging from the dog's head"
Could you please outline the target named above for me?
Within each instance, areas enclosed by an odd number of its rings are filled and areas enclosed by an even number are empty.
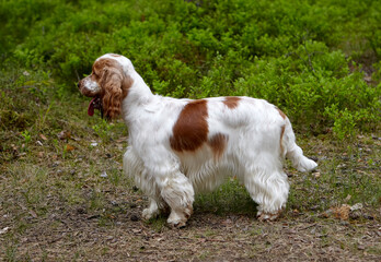
[[[106,118],[114,119],[120,115],[123,78],[117,70],[107,68],[105,69],[102,80],[104,91],[102,98],[103,114]]]

